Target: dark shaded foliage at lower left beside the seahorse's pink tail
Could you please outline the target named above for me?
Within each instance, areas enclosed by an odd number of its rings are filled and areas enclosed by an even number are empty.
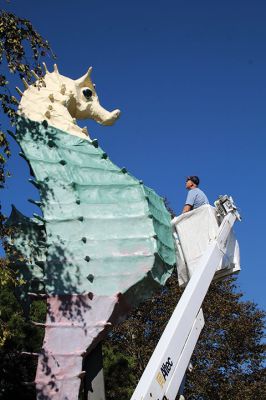
[[[26,320],[20,304],[14,296],[14,288],[5,286],[0,291],[1,319],[8,332],[0,348],[0,399],[35,399],[33,382],[37,357],[23,355],[25,352],[37,352],[41,348],[43,330],[36,328]],[[46,304],[43,301],[33,303],[30,319],[43,321]]]

